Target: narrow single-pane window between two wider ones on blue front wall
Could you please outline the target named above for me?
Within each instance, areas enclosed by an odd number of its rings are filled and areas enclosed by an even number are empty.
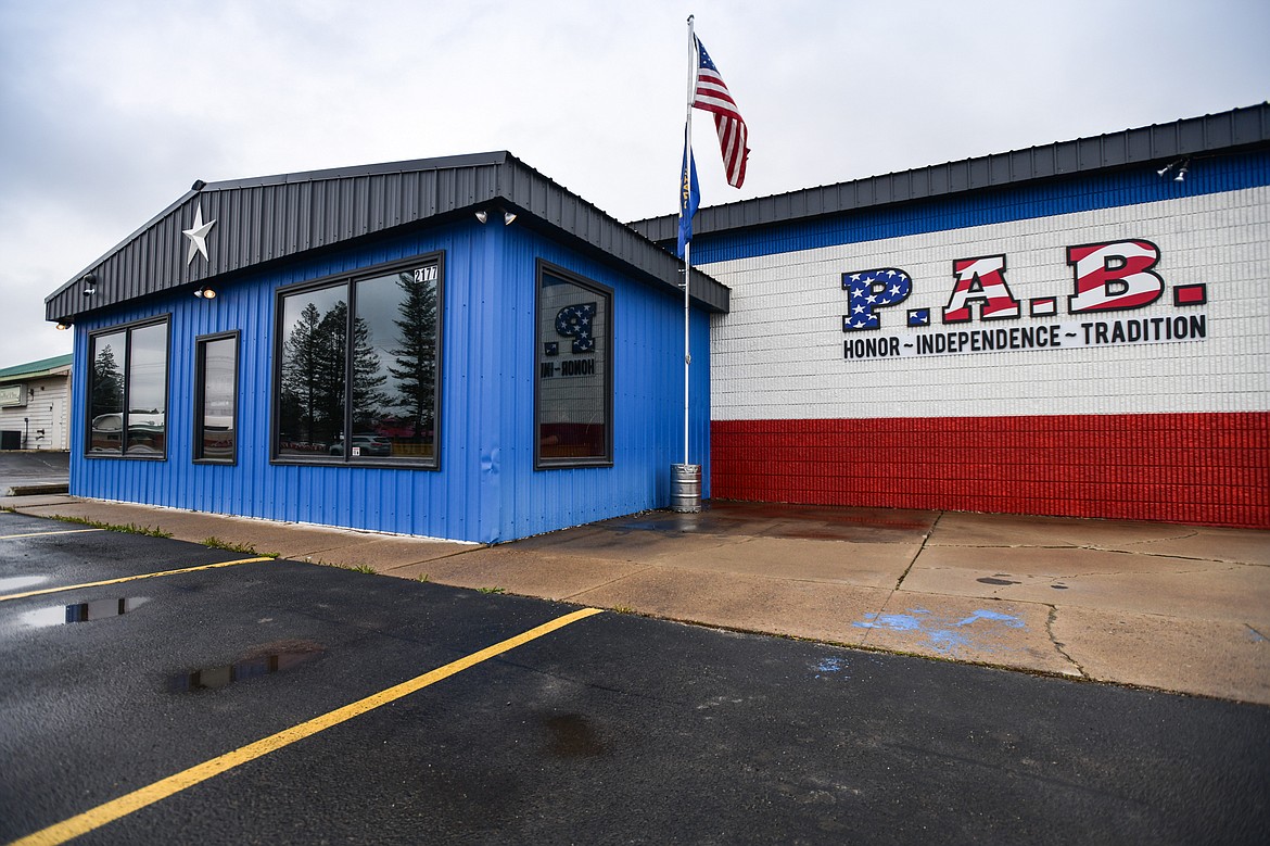
[[[194,342],[194,461],[237,460],[236,332]]]

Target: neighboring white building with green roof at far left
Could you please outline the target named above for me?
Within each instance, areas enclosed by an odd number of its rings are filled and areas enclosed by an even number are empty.
[[[0,448],[70,450],[72,359],[57,356],[0,370],[0,432],[9,433],[0,436]]]

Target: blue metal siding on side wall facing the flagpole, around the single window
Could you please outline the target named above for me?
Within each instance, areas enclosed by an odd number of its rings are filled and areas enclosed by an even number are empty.
[[[511,226],[502,274],[497,372],[499,540],[525,537],[636,511],[664,507],[671,464],[683,452],[683,302],[632,282],[610,265]],[[613,288],[613,465],[533,469],[536,267],[542,258]],[[514,281],[514,285],[512,283]],[[693,311],[693,461],[709,452],[709,319]]]

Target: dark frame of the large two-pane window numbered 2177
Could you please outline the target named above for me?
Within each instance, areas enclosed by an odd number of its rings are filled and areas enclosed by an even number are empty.
[[[403,456],[354,456],[351,455],[352,450],[345,451],[345,455],[282,455],[279,452],[281,432],[279,426],[282,423],[282,348],[284,343],[283,338],[283,304],[287,297],[306,293],[309,291],[321,291],[325,288],[338,288],[343,287],[345,291],[345,302],[348,304],[348,324],[344,328],[344,337],[352,338],[353,320],[357,318],[357,302],[356,302],[356,290],[357,283],[366,279],[372,279],[381,276],[387,276],[404,269],[415,269],[420,267],[436,265],[437,268],[437,363],[436,363],[436,387],[433,398],[433,455],[428,459],[411,459]],[[406,470],[441,470],[441,434],[442,427],[442,385],[443,385],[443,362],[444,362],[444,324],[446,324],[446,253],[444,250],[433,250],[431,253],[420,253],[419,255],[410,257],[408,259],[385,262],[382,264],[375,264],[371,267],[357,268],[356,271],[344,271],[340,273],[331,273],[315,279],[306,279],[304,282],[297,282],[295,285],[286,285],[274,291],[273,302],[273,373],[272,373],[272,387],[271,387],[271,415],[269,415],[269,464],[277,465],[304,465],[304,466],[333,466],[333,467],[394,467],[394,469],[406,469]],[[344,348],[344,419],[343,419],[343,433],[348,438],[353,428],[353,401],[352,401],[352,385],[353,385],[353,357],[348,354],[348,346],[345,343]]]

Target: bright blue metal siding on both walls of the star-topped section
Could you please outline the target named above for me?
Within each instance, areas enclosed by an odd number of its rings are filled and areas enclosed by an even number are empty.
[[[305,188],[305,187],[301,187]],[[331,187],[334,188],[334,187]],[[245,194],[244,194],[245,196]],[[330,199],[330,198],[328,198]],[[259,225],[271,225],[271,212]],[[305,238],[304,234],[297,234]],[[241,239],[249,243],[249,239]],[[441,469],[271,464],[278,287],[444,252]],[[613,467],[533,470],[535,260],[613,288]],[[523,226],[458,222],[307,258],[229,283],[85,315],[88,333],[170,318],[168,459],[84,456],[86,379],[74,385],[72,493],[194,511],[493,542],[665,506],[682,451],[682,301]],[[194,339],[237,329],[239,456],[193,464]],[[709,320],[693,312],[693,460],[709,450]],[[707,476],[709,478],[709,476]]]

